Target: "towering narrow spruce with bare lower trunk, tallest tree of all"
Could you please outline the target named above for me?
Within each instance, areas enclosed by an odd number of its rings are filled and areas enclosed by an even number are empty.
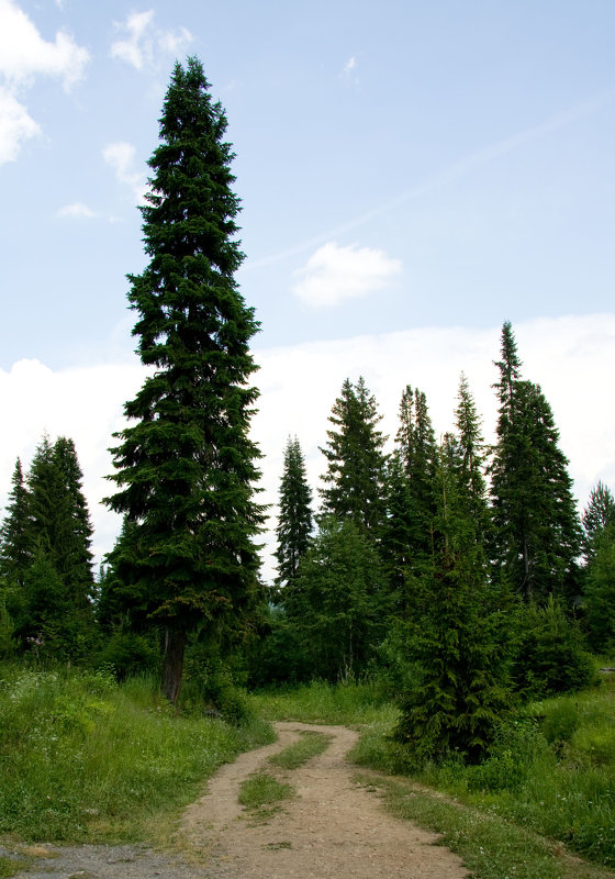
[[[141,209],[149,263],[128,276],[133,334],[154,367],[113,449],[111,509],[135,524],[115,564],[134,622],[165,633],[163,690],[179,694],[189,633],[238,627],[259,600],[254,537],[259,452],[248,436],[256,388],[254,310],[234,275],[239,202],[226,118],[201,63],[177,64]]]

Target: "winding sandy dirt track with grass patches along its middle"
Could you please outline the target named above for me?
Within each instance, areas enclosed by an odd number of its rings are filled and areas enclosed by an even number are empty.
[[[384,811],[378,797],[351,780],[346,755],[357,733],[343,726],[278,723],[275,745],[242,755],[210,781],[186,811],[179,838],[210,879],[463,879],[458,856],[436,834]],[[327,749],[303,767],[275,774],[297,797],[267,823],[246,820],[237,795],[243,780],[273,771],[267,759],[302,731],[332,736]]]

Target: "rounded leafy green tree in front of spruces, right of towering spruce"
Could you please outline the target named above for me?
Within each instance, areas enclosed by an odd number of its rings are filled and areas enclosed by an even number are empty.
[[[378,553],[351,519],[321,521],[281,600],[312,675],[334,681],[359,674],[374,658],[387,630],[389,593]]]

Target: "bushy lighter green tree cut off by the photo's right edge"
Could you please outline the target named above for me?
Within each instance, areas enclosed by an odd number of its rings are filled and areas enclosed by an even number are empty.
[[[590,647],[599,653],[615,648],[615,520],[592,535],[583,598]]]

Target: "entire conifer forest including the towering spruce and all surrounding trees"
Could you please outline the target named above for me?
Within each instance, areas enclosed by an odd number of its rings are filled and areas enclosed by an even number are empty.
[[[230,686],[379,681],[393,737],[418,765],[479,765],[530,700],[595,682],[615,648],[615,496],[580,512],[539,376],[503,316],[495,442],[459,377],[455,430],[433,424],[422,376],[399,388],[394,436],[348,377],[322,425],[318,486],[280,413],[277,577],[260,576],[269,515],[250,435],[254,309],[226,118],[200,60],[177,64],[141,208],[147,264],[128,276],[148,367],[113,437],[121,533],[99,570],[72,439],[14,464],[0,528],[0,659],[155,674],[216,703]]]

